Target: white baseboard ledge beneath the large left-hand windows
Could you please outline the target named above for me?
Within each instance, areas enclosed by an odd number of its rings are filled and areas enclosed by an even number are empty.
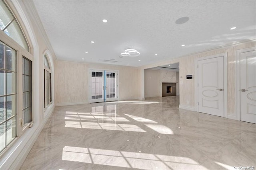
[[[49,110],[49,114],[47,114],[44,121],[40,125],[34,125],[34,129],[33,127],[29,128],[24,135],[22,135],[20,139],[15,142],[15,145],[13,145],[12,148],[6,152],[6,156],[3,158],[4,160],[1,160],[0,169],[20,169],[28,156],[28,153],[36,142],[36,139],[44,128],[47,120],[49,119],[50,115],[52,115],[53,110],[54,106]]]

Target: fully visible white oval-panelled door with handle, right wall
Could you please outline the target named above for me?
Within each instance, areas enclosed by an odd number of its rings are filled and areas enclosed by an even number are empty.
[[[223,57],[198,61],[198,111],[224,117]]]

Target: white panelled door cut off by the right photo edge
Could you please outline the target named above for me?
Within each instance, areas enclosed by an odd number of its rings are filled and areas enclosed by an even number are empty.
[[[256,123],[256,51],[240,54],[241,121]]]

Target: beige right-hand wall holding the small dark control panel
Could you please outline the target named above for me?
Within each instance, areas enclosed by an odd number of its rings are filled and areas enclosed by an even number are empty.
[[[256,41],[250,41],[246,43],[240,43],[238,45],[232,45],[228,47],[222,47],[202,53],[196,53],[185,57],[170,59],[140,67],[140,69],[152,68],[156,66],[166,65],[166,63],[180,63],[180,105],[195,108],[195,79],[186,80],[186,74],[193,74],[195,76],[194,61],[199,57],[206,57],[221,53],[228,53],[228,115],[235,115],[236,96],[235,96],[235,80],[236,80],[236,51],[238,49],[244,49],[256,46]]]

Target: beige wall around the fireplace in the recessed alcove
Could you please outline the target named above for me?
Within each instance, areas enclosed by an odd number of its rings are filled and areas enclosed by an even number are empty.
[[[162,83],[177,82],[176,72],[170,70],[145,70],[145,98],[161,97]],[[178,84],[177,84],[178,85]]]

